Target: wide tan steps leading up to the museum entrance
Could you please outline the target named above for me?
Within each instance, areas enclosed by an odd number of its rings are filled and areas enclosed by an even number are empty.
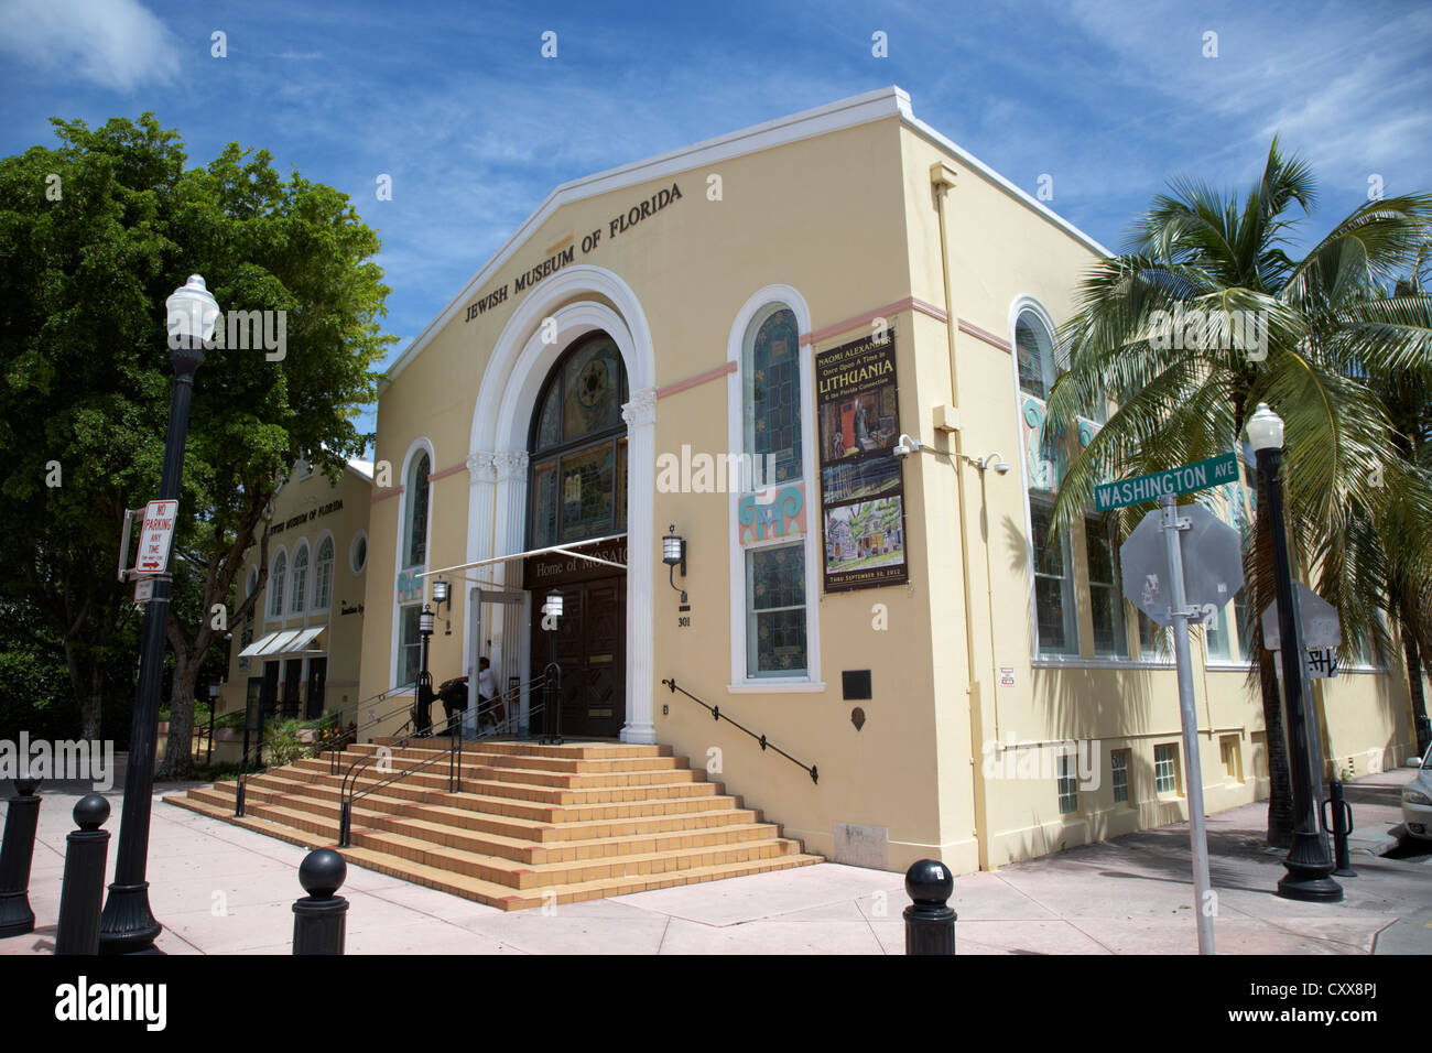
[[[385,751],[385,755],[379,754]],[[388,785],[391,772],[431,761]],[[354,784],[357,865],[503,910],[818,862],[759,811],[709,782],[669,746],[464,744],[458,792],[447,744],[354,745],[251,776],[245,817],[235,784],[165,801],[305,847],[337,847],[344,772]]]

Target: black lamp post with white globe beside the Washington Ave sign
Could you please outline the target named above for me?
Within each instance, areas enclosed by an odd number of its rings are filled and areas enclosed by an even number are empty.
[[[1293,776],[1293,844],[1283,865],[1287,874],[1277,883],[1277,894],[1286,900],[1339,903],[1342,885],[1332,880],[1333,858],[1319,819],[1316,781],[1322,772],[1312,765],[1310,721],[1303,693],[1303,632],[1293,606],[1293,570],[1287,557],[1287,527],[1283,523],[1283,487],[1279,470],[1283,466],[1283,420],[1259,403],[1249,420],[1249,441],[1257,456],[1257,468],[1267,486],[1269,533],[1273,536],[1273,573],[1277,597],[1277,630],[1282,640],[1283,708],[1286,712],[1289,766]],[[1259,510],[1262,514],[1262,509]]]

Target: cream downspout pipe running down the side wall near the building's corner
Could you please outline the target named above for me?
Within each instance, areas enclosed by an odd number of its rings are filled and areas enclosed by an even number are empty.
[[[955,332],[959,319],[955,315],[954,285],[949,275],[949,192],[955,188],[955,169],[942,160],[929,166],[929,182],[935,198],[935,212],[939,219],[939,269],[945,284],[945,337],[949,342],[949,404],[955,410],[955,418],[949,421],[955,427],[949,431],[954,446],[955,491],[959,501],[959,576],[964,586],[965,603],[965,706],[969,711],[969,774],[974,788],[974,818],[975,818],[975,847],[979,854],[979,870],[990,870],[990,824],[985,805],[987,787],[984,778],[984,764],[981,744],[984,742],[984,695],[975,688],[979,682],[975,668],[975,630],[974,630],[974,602],[969,596],[969,539],[968,519],[965,517],[965,456],[964,440],[959,428],[959,368],[955,355]]]

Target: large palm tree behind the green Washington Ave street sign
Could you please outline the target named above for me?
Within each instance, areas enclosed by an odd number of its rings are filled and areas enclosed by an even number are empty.
[[[1307,166],[1285,159],[1277,139],[1243,201],[1179,179],[1154,199],[1126,255],[1093,265],[1077,312],[1061,330],[1070,371],[1050,395],[1048,425],[1073,423],[1101,401],[1117,410],[1073,460],[1051,516],[1065,527],[1103,479],[1157,471],[1226,453],[1247,418],[1267,403],[1286,421],[1283,487],[1293,552],[1323,557],[1322,580],[1337,573],[1329,539],[1348,537],[1396,511],[1408,544],[1432,547],[1432,491],[1398,456],[1396,431],[1370,374],[1426,364],[1426,341],[1393,338],[1368,311],[1368,289],[1416,259],[1428,238],[1432,195],[1370,201],[1339,222],[1302,259],[1285,246],[1315,201]],[[1200,314],[1194,314],[1200,312]],[[1174,330],[1174,327],[1179,327]],[[1170,335],[1173,337],[1170,340]],[[1375,471],[1380,467],[1380,471]],[[1127,533],[1151,506],[1124,509]],[[1259,500],[1259,507],[1266,507]],[[1266,516],[1246,557],[1252,609],[1273,599]],[[1366,605],[1343,587],[1335,600],[1345,630],[1372,632]],[[1292,797],[1272,663],[1253,619],[1253,670],[1267,735],[1269,841],[1287,844]]]

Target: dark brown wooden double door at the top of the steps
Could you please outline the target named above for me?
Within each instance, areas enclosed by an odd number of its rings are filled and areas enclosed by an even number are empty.
[[[564,738],[616,736],[626,723],[626,574],[558,586],[563,616],[557,622],[557,665],[561,666],[561,734]],[[533,596],[540,612],[546,595]],[[551,633],[533,616],[533,679],[551,660]],[[538,722],[534,732],[541,729]]]

